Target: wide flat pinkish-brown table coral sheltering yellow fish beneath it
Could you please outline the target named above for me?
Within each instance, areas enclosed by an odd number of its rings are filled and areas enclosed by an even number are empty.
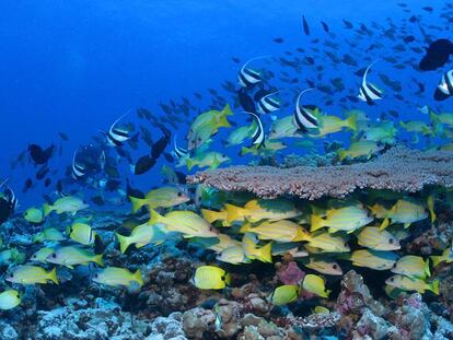
[[[224,191],[248,191],[260,198],[341,198],[364,188],[416,192],[429,185],[453,187],[453,152],[395,146],[368,163],[291,168],[232,166],[197,173],[187,181]]]

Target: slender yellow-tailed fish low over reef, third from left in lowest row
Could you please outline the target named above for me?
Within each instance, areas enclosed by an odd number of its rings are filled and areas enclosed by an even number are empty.
[[[136,272],[130,272],[126,268],[106,267],[93,275],[93,281],[112,286],[131,286],[138,284],[143,285],[140,269]]]

